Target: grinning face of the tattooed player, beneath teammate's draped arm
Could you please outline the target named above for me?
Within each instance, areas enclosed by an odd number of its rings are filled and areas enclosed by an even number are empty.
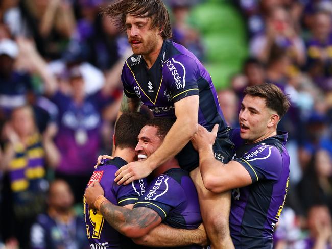
[[[138,161],[145,160],[161,145],[162,139],[157,136],[157,131],[158,129],[154,126],[145,126],[141,129],[135,148]]]

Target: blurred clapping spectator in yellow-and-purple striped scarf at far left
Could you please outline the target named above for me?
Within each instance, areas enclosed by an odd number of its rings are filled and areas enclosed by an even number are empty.
[[[46,165],[55,167],[59,153],[53,143],[54,129],[50,127],[43,136],[38,133],[33,110],[29,106],[13,110],[5,124],[3,134],[8,142],[1,161],[1,169],[10,179],[11,203],[7,203],[7,229],[17,237],[21,248],[29,248],[29,231],[36,215],[43,211],[46,181]],[[8,216],[9,215],[9,216]]]

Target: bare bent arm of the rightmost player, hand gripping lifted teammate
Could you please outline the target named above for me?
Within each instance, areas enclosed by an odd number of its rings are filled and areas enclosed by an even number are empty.
[[[252,180],[249,172],[240,163],[232,160],[223,164],[215,159],[212,145],[215,143],[217,132],[217,124],[212,132],[199,126],[198,132],[192,139],[193,145],[199,153],[199,167],[205,188],[221,193],[250,185]]]

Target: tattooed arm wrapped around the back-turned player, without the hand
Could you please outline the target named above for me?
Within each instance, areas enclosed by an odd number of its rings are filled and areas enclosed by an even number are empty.
[[[139,207],[129,210],[104,201],[100,212],[107,222],[126,237],[139,238],[146,235],[161,222],[161,217],[150,208]]]

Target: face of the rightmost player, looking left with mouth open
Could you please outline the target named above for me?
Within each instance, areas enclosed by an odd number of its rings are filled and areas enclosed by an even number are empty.
[[[270,110],[265,99],[246,95],[239,113],[240,136],[250,143],[263,140],[276,130],[279,116]]]

